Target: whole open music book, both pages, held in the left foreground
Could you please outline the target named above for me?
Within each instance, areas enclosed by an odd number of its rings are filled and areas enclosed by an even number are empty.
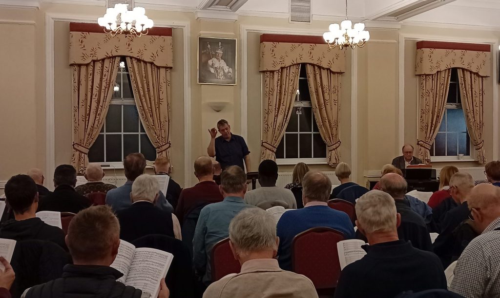
[[[135,248],[120,240],[118,254],[110,266],[123,276],[118,282],[158,297],[160,280],[166,276],[173,255],[153,248]]]

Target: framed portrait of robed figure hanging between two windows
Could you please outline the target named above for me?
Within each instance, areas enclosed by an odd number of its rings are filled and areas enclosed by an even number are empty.
[[[198,84],[236,85],[236,39],[198,37]]]

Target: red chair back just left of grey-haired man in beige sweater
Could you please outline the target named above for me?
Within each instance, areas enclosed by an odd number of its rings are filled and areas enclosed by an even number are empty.
[[[231,273],[239,273],[241,265],[232,255],[229,238],[215,243],[211,252],[212,282],[216,282]]]

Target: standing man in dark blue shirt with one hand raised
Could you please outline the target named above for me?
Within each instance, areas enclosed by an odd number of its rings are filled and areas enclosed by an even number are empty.
[[[246,146],[245,140],[237,135],[231,134],[231,127],[226,120],[219,120],[217,122],[217,129],[220,133],[218,138],[217,130],[212,128],[208,130],[210,133],[210,144],[206,149],[208,156],[215,156],[222,167],[222,170],[230,165],[237,165],[243,170],[243,160],[246,166],[246,172],[250,171],[250,151]]]

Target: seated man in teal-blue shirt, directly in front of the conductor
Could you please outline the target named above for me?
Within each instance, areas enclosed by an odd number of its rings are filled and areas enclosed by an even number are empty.
[[[194,231],[193,263],[197,275],[208,286],[211,283],[210,255],[218,241],[229,237],[231,219],[245,208],[256,208],[245,204],[246,174],[237,166],[227,167],[220,175],[219,189],[224,197],[222,202],[208,204],[199,213]]]

